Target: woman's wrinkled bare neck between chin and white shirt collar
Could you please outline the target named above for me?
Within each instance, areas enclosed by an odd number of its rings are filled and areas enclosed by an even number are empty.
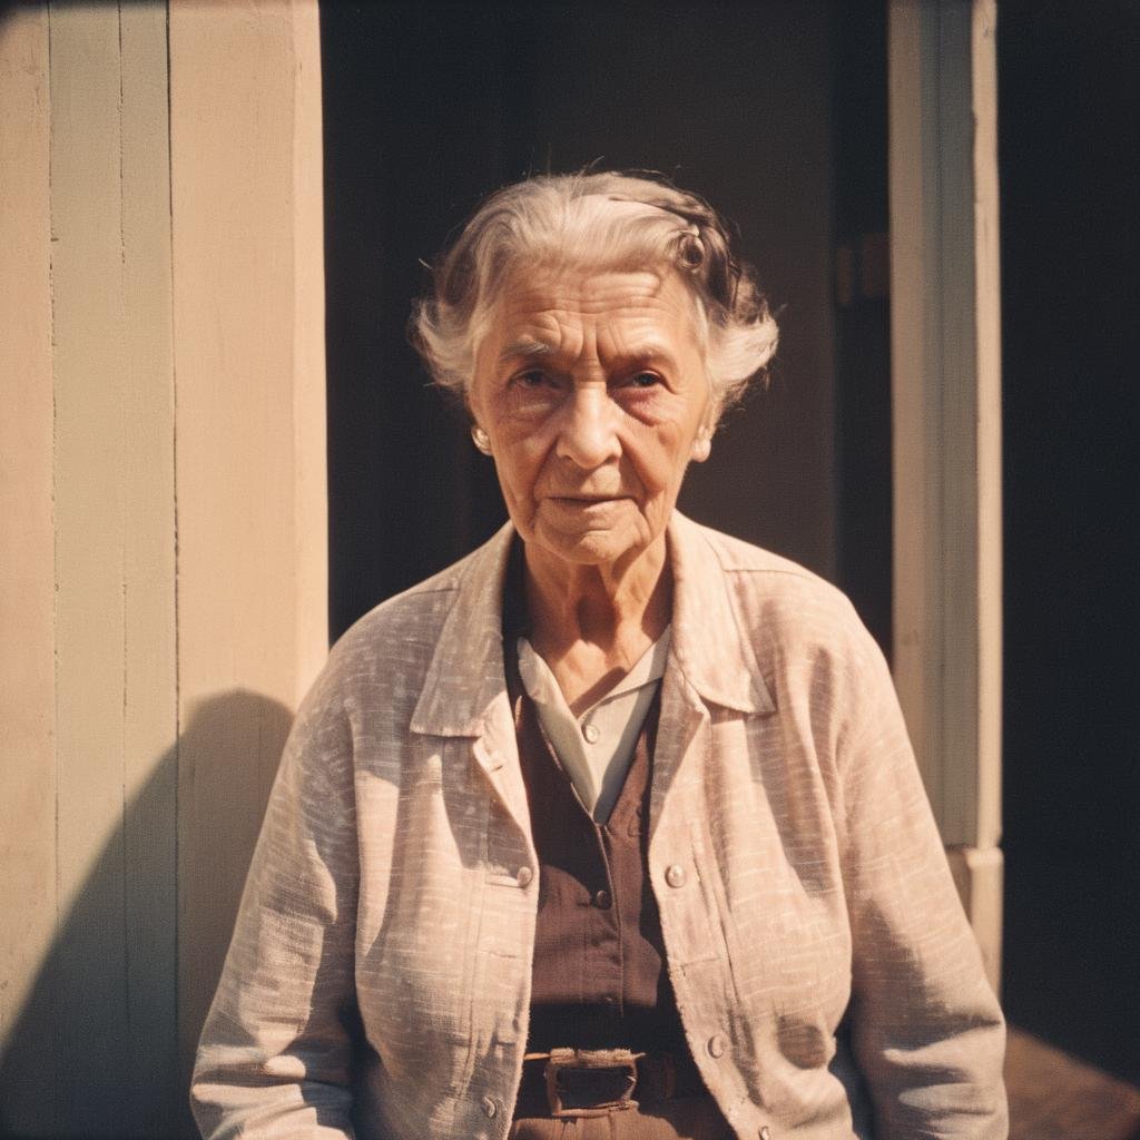
[[[673,610],[666,538],[627,564],[577,565],[526,547],[530,642],[580,714],[665,633]]]

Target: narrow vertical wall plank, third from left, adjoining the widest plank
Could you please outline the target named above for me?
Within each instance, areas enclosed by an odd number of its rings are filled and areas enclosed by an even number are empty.
[[[174,389],[166,5],[123,5],[125,1113],[173,1137],[178,1086]]]

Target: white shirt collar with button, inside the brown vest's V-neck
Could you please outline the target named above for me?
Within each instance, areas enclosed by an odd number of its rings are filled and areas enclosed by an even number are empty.
[[[637,735],[665,675],[670,629],[579,717],[571,712],[551,667],[526,637],[519,638],[519,675],[527,695],[578,798],[598,823],[609,819],[633,762]]]

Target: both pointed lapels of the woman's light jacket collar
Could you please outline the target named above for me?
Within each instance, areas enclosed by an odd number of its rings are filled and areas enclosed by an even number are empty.
[[[454,592],[454,601],[412,717],[413,732],[482,735],[494,702],[505,693],[503,584],[513,540],[514,528],[506,523],[441,584]],[[675,511],[668,543],[674,580],[669,663],[707,703],[773,711],[751,642],[739,626],[728,576],[705,529]]]

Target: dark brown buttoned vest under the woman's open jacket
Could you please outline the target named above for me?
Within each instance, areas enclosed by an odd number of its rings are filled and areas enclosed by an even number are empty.
[[[567,1045],[687,1054],[649,879],[654,698],[613,811],[578,799],[519,677],[518,628],[504,630],[507,690],[539,863],[530,1052]]]

